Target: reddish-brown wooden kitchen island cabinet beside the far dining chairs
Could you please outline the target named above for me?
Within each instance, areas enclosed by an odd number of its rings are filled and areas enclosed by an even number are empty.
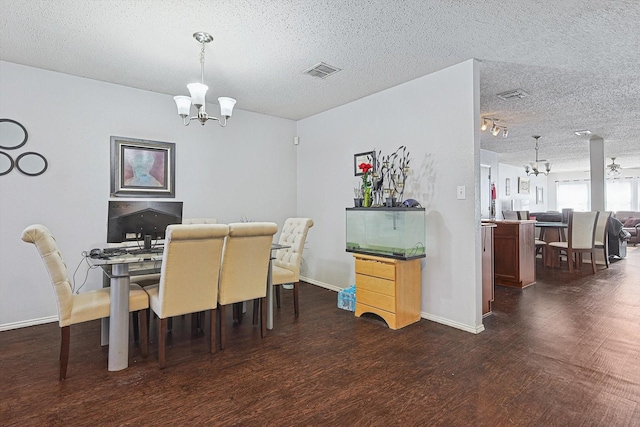
[[[495,282],[525,288],[536,281],[535,221],[496,221],[493,231]]]

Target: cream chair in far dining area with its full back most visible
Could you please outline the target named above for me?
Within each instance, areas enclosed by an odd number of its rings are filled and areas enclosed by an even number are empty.
[[[598,212],[569,212],[568,238],[566,242],[549,242],[547,246],[556,251],[567,253],[569,272],[573,273],[573,264],[582,263],[582,254],[588,252],[591,256],[591,268],[596,273],[595,233]],[[577,259],[575,259],[577,258]]]

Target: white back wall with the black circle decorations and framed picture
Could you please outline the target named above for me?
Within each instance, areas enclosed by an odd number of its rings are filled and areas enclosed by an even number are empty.
[[[219,112],[215,104],[208,109]],[[44,265],[20,240],[26,226],[51,229],[70,276],[82,251],[104,246],[112,135],[176,143],[171,200],[184,202],[185,217],[237,222],[244,216],[281,225],[296,215],[296,124],[290,120],[235,110],[226,128],[216,122],[184,127],[170,96],[2,61],[0,117],[29,132],[24,147],[7,153],[36,151],[49,161],[39,177],[17,170],[0,177],[0,330],[56,315]],[[83,265],[76,282],[85,272]],[[90,271],[84,289],[98,286],[100,272]]]

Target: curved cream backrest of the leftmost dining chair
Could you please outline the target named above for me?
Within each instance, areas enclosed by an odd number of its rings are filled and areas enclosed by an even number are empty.
[[[60,327],[71,325],[73,287],[67,275],[67,266],[51,232],[42,224],[30,225],[22,232],[22,240],[35,245],[47,268],[58,302]]]

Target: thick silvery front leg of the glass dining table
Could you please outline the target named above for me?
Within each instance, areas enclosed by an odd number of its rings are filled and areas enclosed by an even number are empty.
[[[114,264],[109,313],[109,370],[129,366],[129,265]]]

